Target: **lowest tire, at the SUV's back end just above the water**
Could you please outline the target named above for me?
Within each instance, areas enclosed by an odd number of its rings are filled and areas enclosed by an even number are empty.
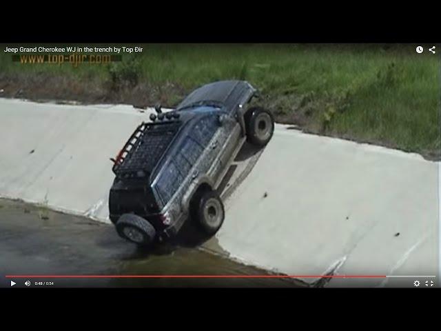
[[[137,245],[151,245],[156,237],[153,225],[135,214],[121,215],[115,226],[120,237]]]

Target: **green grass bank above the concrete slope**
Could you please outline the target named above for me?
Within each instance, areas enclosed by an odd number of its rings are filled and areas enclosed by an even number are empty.
[[[110,66],[21,65],[0,55],[0,88],[10,77],[93,81],[118,93],[145,86],[165,106],[220,79],[246,79],[276,120],[309,132],[441,156],[440,63],[413,45],[143,45]],[[48,87],[50,88],[50,87]],[[101,90],[102,91],[102,90]],[[102,92],[101,92],[102,93]],[[133,95],[122,97],[131,102]]]

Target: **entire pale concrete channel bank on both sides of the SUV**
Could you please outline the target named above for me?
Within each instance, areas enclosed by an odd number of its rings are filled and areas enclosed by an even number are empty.
[[[11,99],[0,109],[0,195],[109,223],[109,157],[154,110]],[[309,285],[414,281],[329,274],[438,276],[439,166],[276,125],[265,150],[240,152],[223,183],[225,223],[202,249]]]

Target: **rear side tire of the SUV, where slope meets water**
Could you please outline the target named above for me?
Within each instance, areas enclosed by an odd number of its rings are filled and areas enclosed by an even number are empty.
[[[192,215],[201,230],[212,236],[218,232],[225,219],[223,202],[212,190],[200,192],[196,197]]]

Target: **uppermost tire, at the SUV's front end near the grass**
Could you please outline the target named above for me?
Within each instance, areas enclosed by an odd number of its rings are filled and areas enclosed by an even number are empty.
[[[256,146],[266,146],[274,133],[274,117],[262,107],[254,107],[245,114],[247,141]]]

